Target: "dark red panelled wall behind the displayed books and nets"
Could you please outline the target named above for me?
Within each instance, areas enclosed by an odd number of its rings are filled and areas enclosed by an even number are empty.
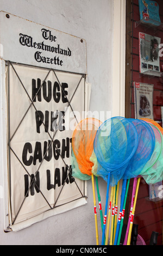
[[[133,17],[131,22],[133,22],[133,67],[131,68],[132,80],[133,82],[142,82],[154,84],[154,94],[153,94],[153,112],[154,120],[158,121],[162,126],[161,122],[161,108],[163,106],[163,77],[152,77],[148,75],[142,75],[139,72],[139,32],[144,32],[147,34],[155,35],[161,38],[161,43],[163,44],[163,27],[161,30],[153,31],[151,28],[145,28],[142,25],[135,27],[135,22],[140,20],[139,15],[139,3],[138,0],[133,0]],[[159,4],[160,19],[163,23],[163,1],[156,0]],[[132,4],[132,3],[131,3]],[[127,14],[128,15],[128,14]],[[147,29],[147,30],[146,30]],[[131,53],[132,54],[132,53]],[[163,65],[163,57],[160,58],[160,67]],[[163,70],[161,70],[163,71]],[[135,118],[134,114],[134,92],[133,84],[131,87],[132,99],[131,99],[131,118]],[[163,169],[163,167],[162,167]],[[131,180],[131,182],[133,182]],[[132,185],[130,184],[129,193],[129,207],[130,198],[132,192]],[[149,244],[149,240],[152,231],[159,232],[158,245],[162,245],[162,202],[153,203],[149,202],[148,198],[148,185],[141,178],[139,194],[137,197],[136,210],[134,223],[139,224],[139,234],[143,237],[146,244]]]

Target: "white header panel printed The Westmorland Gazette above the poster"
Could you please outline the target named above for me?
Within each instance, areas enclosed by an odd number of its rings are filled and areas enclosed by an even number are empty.
[[[1,58],[86,74],[86,42],[56,29],[0,12]]]

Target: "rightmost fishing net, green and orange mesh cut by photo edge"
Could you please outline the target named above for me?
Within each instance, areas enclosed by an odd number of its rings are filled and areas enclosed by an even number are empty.
[[[149,123],[155,135],[155,147],[151,159],[143,167],[140,175],[145,179],[147,184],[154,184],[163,180],[163,138],[160,129]]]

